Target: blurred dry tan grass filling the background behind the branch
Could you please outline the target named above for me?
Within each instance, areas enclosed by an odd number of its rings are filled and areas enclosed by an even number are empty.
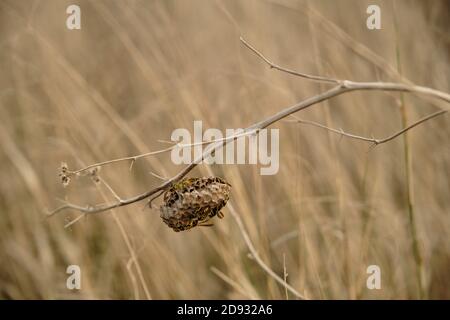
[[[70,4],[81,8],[81,30],[66,28]],[[370,4],[381,30],[366,27]],[[301,72],[449,92],[449,12],[448,1],[2,0],[0,298],[295,299],[249,258],[229,208],[213,227],[180,233],[145,202],[69,228],[79,213],[46,218],[61,200],[114,200],[88,177],[63,188],[61,162],[74,170],[166,148],[158,140],[192,132],[194,120],[204,130],[246,127],[329,88],[269,69],[240,35]],[[401,101],[354,92],[297,116],[383,138],[402,128],[402,106],[408,123],[445,107]],[[230,203],[261,259],[308,298],[449,299],[449,120],[372,149],[282,121],[272,126],[278,174],[201,165],[189,176],[212,171],[233,186]],[[129,166],[100,171],[123,198],[159,185],[151,173],[182,169],[167,153]],[[80,266],[81,290],[66,288],[68,265]],[[381,290],[366,287],[369,265],[381,269]]]

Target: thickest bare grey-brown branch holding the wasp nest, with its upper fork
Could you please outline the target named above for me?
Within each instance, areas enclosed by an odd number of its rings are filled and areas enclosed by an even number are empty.
[[[265,58],[259,51],[257,51],[255,48],[251,47],[248,42],[246,42],[243,38],[241,38],[241,41],[244,43],[244,45],[246,45],[246,47],[248,47],[249,49],[251,49],[255,54],[258,55],[258,57],[260,57],[261,59],[263,59],[266,63],[269,64],[269,66],[272,66],[273,68],[275,68],[274,63],[272,63],[270,60],[268,60],[267,58]],[[305,75],[305,74],[300,74],[300,73],[292,73],[289,72],[290,70],[282,68],[277,66],[278,70],[283,71],[283,72],[287,72],[299,77],[303,77],[303,78],[307,78],[310,80],[318,80],[318,81],[324,81],[324,79],[328,79],[328,78],[323,78],[323,77],[315,77],[315,76],[309,76],[309,75]],[[450,104],[450,95],[448,93],[442,92],[442,91],[438,91],[435,89],[431,89],[428,87],[422,87],[422,86],[416,86],[416,85],[406,85],[406,84],[401,84],[401,83],[392,83],[392,82],[355,82],[355,81],[348,81],[348,80],[335,80],[335,79],[328,79],[330,83],[337,83],[336,86],[332,87],[331,89],[319,93],[315,96],[312,96],[310,98],[307,98],[301,102],[298,102],[290,107],[287,107],[283,110],[281,110],[280,112],[260,121],[257,122],[249,127],[247,127],[246,129],[244,129],[244,131],[242,132],[241,135],[250,135],[250,134],[257,134],[259,132],[259,130],[267,128],[268,126],[274,124],[275,122],[282,120],[284,118],[286,118],[287,116],[294,114],[296,112],[299,112],[301,110],[304,110],[310,106],[313,106],[317,103],[320,103],[322,101],[331,99],[333,97],[339,96],[341,94],[344,93],[348,93],[351,91],[361,91],[361,90],[379,90],[379,91],[398,91],[398,92],[411,92],[411,93],[416,93],[416,94],[420,94],[420,95],[425,95],[425,96],[429,96],[429,97],[434,97],[440,100],[443,100],[447,103]],[[327,81],[327,80],[325,80]],[[449,108],[447,106],[447,108]],[[448,109],[446,109],[448,110]],[[427,119],[428,120],[428,119]],[[422,121],[423,122],[423,121]],[[418,125],[419,123],[417,123]],[[401,134],[401,133],[400,133]],[[395,137],[394,137],[395,138]],[[215,150],[222,148],[224,145],[228,144],[231,141],[234,141],[235,139],[237,139],[236,137],[226,137],[224,139],[222,139],[223,141],[218,141],[218,142],[202,142],[202,144],[205,143],[209,143],[208,147],[206,148],[206,150],[203,152],[203,154],[199,157],[197,157],[196,159],[194,159],[194,161],[187,165],[186,167],[184,167],[178,174],[176,174],[175,176],[173,176],[172,178],[168,179],[167,181],[165,181],[164,183],[162,183],[161,185],[146,191],[142,194],[139,194],[137,196],[128,198],[128,199],[124,199],[124,200],[120,200],[117,201],[115,203],[111,203],[111,204],[106,204],[106,205],[97,205],[97,206],[79,206],[79,205],[75,205],[75,204],[65,204],[64,206],[61,206],[57,209],[55,209],[54,211],[48,213],[49,216],[54,215],[58,212],[61,212],[63,210],[66,209],[73,209],[73,210],[77,210],[80,212],[84,212],[84,213],[98,213],[98,212],[103,212],[103,211],[107,211],[110,209],[114,209],[114,208],[118,208],[118,207],[122,207],[122,206],[126,206],[138,201],[141,201],[143,199],[146,199],[162,190],[166,190],[167,188],[169,188],[173,183],[176,183],[178,181],[180,181],[183,177],[185,177],[192,169],[194,169],[199,163],[202,162],[202,160],[209,156],[212,152],[214,152]],[[392,138],[393,139],[393,138]],[[174,146],[170,147],[173,148]],[[169,149],[169,148],[168,148]],[[135,156],[135,157],[140,157],[140,156]],[[124,159],[126,160],[133,160],[135,157],[128,157],[128,158],[122,158],[122,159],[116,159],[113,160],[113,162],[118,162],[118,161],[124,161]],[[105,161],[101,164],[107,164],[107,163],[111,163],[111,161]],[[89,166],[90,168],[92,167],[96,167],[99,166],[99,164],[95,164],[92,166]],[[86,168],[84,168],[86,169]]]

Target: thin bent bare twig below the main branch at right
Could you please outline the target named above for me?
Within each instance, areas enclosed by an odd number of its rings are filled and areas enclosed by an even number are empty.
[[[295,122],[295,123],[312,125],[312,126],[315,126],[315,127],[318,127],[318,128],[322,128],[322,129],[325,129],[325,130],[337,133],[337,134],[339,134],[341,136],[345,136],[345,137],[348,137],[348,138],[362,140],[362,141],[367,141],[367,142],[372,142],[375,146],[377,146],[379,144],[391,141],[391,140],[397,138],[398,136],[400,136],[401,134],[405,133],[406,131],[411,130],[412,128],[418,126],[419,124],[421,124],[421,123],[423,123],[423,122],[425,122],[427,120],[430,120],[432,118],[435,118],[435,117],[437,117],[437,116],[439,116],[441,114],[444,114],[446,112],[447,112],[446,110],[440,110],[440,111],[434,112],[434,113],[432,113],[432,114],[430,114],[430,115],[428,115],[426,117],[423,117],[423,118],[417,120],[413,124],[403,128],[402,130],[399,130],[399,131],[395,132],[394,134],[392,134],[392,135],[390,135],[390,136],[388,136],[388,137],[386,137],[384,139],[375,139],[373,137],[372,138],[367,138],[367,137],[359,136],[359,135],[356,135],[356,134],[351,134],[351,133],[345,132],[342,129],[330,128],[330,127],[327,127],[327,126],[325,126],[325,125],[323,125],[321,123],[314,122],[314,121],[309,121],[309,120],[303,120],[303,119],[300,119],[300,118],[298,118],[296,116],[291,116],[291,117],[295,118],[295,120],[285,120],[285,122]]]

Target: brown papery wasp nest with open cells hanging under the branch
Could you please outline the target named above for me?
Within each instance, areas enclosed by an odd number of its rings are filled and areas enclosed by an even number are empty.
[[[185,178],[164,193],[161,218],[174,231],[208,226],[230,198],[231,185],[218,177]]]

